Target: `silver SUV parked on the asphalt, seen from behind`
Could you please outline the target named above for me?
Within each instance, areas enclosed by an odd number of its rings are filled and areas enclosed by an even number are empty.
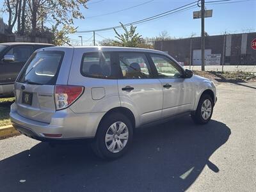
[[[137,127],[178,115],[209,122],[216,88],[161,51],[47,47],[20,72],[15,97],[10,117],[18,131],[49,142],[93,138],[95,153],[113,159]]]

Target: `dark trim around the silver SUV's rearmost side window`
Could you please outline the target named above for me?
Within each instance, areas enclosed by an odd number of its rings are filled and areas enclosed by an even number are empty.
[[[84,57],[86,56],[86,54],[95,54],[95,53],[108,53],[110,54],[110,67],[111,67],[111,76],[109,76],[108,78],[106,77],[95,77],[95,76],[90,76],[90,74],[85,74],[83,72],[83,63],[84,63]],[[115,70],[113,70],[113,65],[115,65],[115,55],[113,54],[113,51],[92,51],[92,52],[84,52],[82,55],[82,59],[81,59],[81,64],[80,64],[80,74],[84,77],[90,77],[90,78],[94,78],[94,79],[118,79],[118,77],[116,76],[116,72]]]

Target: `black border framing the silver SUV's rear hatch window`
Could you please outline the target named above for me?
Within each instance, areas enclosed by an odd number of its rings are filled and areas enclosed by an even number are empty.
[[[60,63],[58,65],[57,71],[56,71],[56,75],[54,76],[53,79],[51,79],[52,84],[47,84],[47,85],[54,85],[57,82],[58,76],[59,76],[59,72],[60,72],[60,68],[65,56],[65,52],[64,51],[35,51],[33,52],[33,54],[31,54],[31,56],[29,57],[29,59],[26,61],[25,65],[22,67],[22,69],[20,70],[19,76],[16,78],[15,81],[17,81],[18,83],[22,83],[20,82],[20,76],[23,74],[24,72],[24,68],[28,67],[27,65],[29,65],[28,63],[31,62],[31,60],[34,58],[35,54],[37,54],[38,52],[50,52],[50,53],[58,53],[61,54],[61,59],[60,59]]]

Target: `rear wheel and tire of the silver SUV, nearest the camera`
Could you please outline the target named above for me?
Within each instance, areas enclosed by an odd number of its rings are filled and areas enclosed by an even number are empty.
[[[100,122],[92,149],[102,159],[116,159],[127,152],[131,143],[131,120],[122,113],[110,113]]]

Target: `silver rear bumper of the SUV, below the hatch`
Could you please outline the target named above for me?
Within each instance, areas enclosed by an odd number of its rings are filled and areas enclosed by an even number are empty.
[[[56,111],[52,115],[51,123],[47,124],[19,115],[15,103],[12,104],[10,112],[10,118],[15,129],[40,141],[94,138],[103,115],[104,113],[77,114],[70,109],[65,109]],[[56,134],[59,136],[54,136]]]

